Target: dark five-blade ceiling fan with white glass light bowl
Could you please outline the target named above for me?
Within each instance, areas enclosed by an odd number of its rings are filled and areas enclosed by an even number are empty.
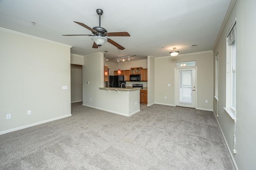
[[[93,36],[92,40],[94,41],[94,43],[92,45],[92,48],[97,49],[98,47],[102,46],[106,41],[108,41],[110,44],[116,46],[120,50],[125,49],[120,44],[116,43],[112,39],[106,38],[105,36],[108,36],[108,37],[130,37],[130,34],[128,32],[108,33],[108,31],[105,28],[100,27],[100,16],[103,14],[103,10],[97,9],[96,12],[99,15],[99,26],[98,27],[96,26],[96,27],[91,28],[91,27],[88,27],[87,25],[85,25],[84,23],[74,21],[75,23],[81,25],[82,27],[89,29],[94,34],[94,35],[88,35],[88,36]],[[84,35],[84,34],[80,34],[80,35]],[[63,36],[77,36],[77,35],[63,35]]]

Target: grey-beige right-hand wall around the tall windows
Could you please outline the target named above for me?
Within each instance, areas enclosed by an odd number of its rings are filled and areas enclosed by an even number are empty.
[[[254,91],[256,1],[236,0],[226,26],[214,49],[219,56],[218,123],[234,163],[240,170],[255,169],[256,93]],[[236,18],[236,133],[234,120],[226,113],[226,35]],[[227,88],[229,90],[229,88]],[[215,108],[214,110],[216,110]],[[236,154],[234,154],[236,135]]]

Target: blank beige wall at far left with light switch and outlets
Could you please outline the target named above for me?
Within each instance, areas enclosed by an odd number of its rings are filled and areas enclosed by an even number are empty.
[[[71,46],[2,28],[0,37],[0,134],[70,116]]]

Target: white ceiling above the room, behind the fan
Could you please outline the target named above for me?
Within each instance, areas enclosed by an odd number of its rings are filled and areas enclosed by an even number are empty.
[[[137,55],[168,56],[212,50],[230,0],[0,0],[0,27],[73,46],[71,53],[88,55],[108,51],[107,58]],[[108,37],[126,49],[106,42],[93,49],[92,34],[74,23],[99,26],[96,9],[102,9],[101,27],[108,32],[127,31],[130,37]],[[32,21],[36,24],[32,24]],[[196,48],[190,45],[197,44]]]

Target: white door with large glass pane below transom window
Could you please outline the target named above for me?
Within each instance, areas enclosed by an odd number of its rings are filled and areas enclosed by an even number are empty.
[[[176,68],[176,106],[196,108],[196,68]]]

